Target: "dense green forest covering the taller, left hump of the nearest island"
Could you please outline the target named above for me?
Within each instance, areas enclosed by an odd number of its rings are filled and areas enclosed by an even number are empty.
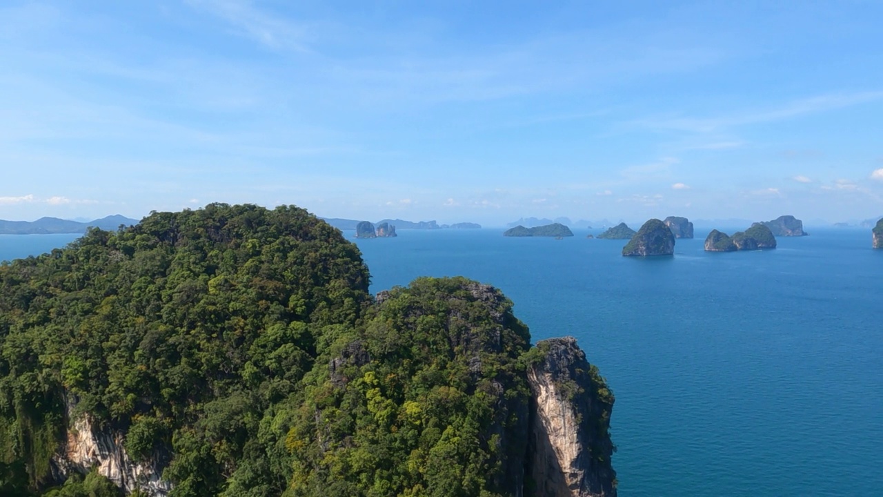
[[[71,402],[127,430],[135,460],[168,457],[177,496],[282,493],[275,405],[367,286],[358,249],[294,207],[154,213],[0,267],[6,480],[49,484]]]

